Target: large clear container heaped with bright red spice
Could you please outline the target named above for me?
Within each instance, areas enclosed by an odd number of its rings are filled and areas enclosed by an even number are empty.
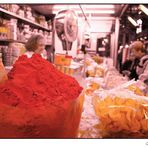
[[[40,55],[19,57],[0,96],[0,138],[76,138],[82,87]]]

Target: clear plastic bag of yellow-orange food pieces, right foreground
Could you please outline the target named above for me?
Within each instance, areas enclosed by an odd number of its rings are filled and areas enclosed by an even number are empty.
[[[148,97],[125,90],[98,91],[93,106],[104,138],[147,138]]]

